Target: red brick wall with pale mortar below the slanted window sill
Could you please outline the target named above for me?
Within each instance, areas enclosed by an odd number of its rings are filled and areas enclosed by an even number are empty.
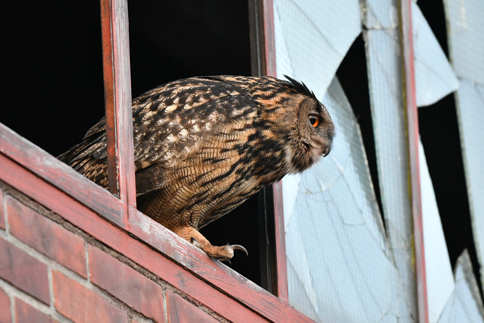
[[[227,321],[0,182],[0,323],[47,322]]]

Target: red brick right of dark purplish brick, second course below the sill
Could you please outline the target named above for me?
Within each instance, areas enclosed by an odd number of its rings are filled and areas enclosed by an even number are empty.
[[[76,323],[127,323],[126,313],[58,271],[52,272],[55,306]]]

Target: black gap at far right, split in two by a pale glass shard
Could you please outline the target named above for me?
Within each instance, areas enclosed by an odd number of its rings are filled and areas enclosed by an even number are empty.
[[[419,1],[418,5],[449,57],[442,1]],[[452,268],[455,269],[457,258],[467,248],[482,297],[480,264],[472,235],[454,94],[447,95],[431,106],[419,108],[418,111],[420,136]]]

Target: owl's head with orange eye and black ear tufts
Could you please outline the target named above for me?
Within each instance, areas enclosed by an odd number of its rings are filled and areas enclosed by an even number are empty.
[[[287,77],[287,76],[285,76]],[[279,103],[285,133],[285,166],[289,173],[301,172],[327,156],[332,148],[334,123],[331,116],[304,83],[287,77],[288,92]]]

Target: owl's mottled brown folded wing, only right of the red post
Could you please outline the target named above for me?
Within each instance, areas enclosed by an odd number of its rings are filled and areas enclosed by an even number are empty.
[[[202,159],[210,155],[207,150],[215,156],[216,148],[224,148],[214,141],[230,137],[227,131],[257,115],[251,96],[234,85],[204,78],[191,83],[197,85],[181,84],[175,91],[155,95],[134,120],[136,195],[164,188],[185,175],[210,171],[212,166],[202,166]],[[186,174],[179,170],[176,175],[166,171],[187,159],[193,159],[195,170],[187,169]]]

